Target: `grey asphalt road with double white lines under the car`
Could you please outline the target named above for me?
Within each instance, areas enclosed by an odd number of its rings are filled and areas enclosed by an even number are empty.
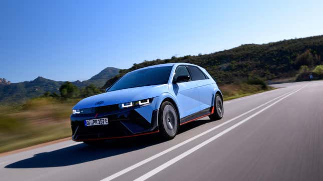
[[[1,181],[323,181],[323,81],[224,102],[224,117],[156,136],[73,141],[0,157]]]

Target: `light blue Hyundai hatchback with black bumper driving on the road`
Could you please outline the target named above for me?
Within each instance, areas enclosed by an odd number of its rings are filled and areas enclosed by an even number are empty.
[[[72,139],[91,144],[159,132],[173,139],[180,125],[223,117],[223,96],[207,71],[188,63],[149,66],[125,74],[105,93],[73,107]]]

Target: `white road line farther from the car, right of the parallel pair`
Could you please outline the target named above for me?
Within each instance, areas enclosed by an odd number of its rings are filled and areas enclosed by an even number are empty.
[[[305,85],[305,86],[306,86],[306,85]],[[204,141],[204,142],[202,142],[202,143],[198,144],[197,146],[195,146],[195,147],[193,147],[193,148],[189,149],[188,151],[186,151],[186,152],[182,153],[181,155],[179,155],[179,156],[177,156],[177,157],[173,158],[172,160],[170,160],[170,161],[166,162],[165,164],[163,164],[163,165],[161,165],[161,166],[159,166],[159,167],[157,167],[157,168],[153,169],[152,171],[150,171],[150,172],[146,173],[145,175],[143,175],[143,176],[141,176],[141,177],[137,178],[137,179],[136,179],[136,180],[134,180],[134,181],[145,181],[145,180],[147,180],[148,178],[150,178],[150,177],[154,176],[155,174],[159,173],[160,171],[162,171],[162,170],[166,169],[167,167],[169,167],[169,166],[173,165],[174,163],[176,163],[176,162],[178,162],[179,160],[183,159],[184,157],[186,157],[186,156],[190,155],[191,153],[195,152],[196,150],[198,150],[198,149],[202,148],[203,146],[207,145],[208,143],[210,143],[210,142],[214,141],[215,139],[219,138],[220,136],[222,136],[222,135],[224,135],[224,134],[228,133],[229,131],[233,130],[234,128],[238,127],[239,125],[243,124],[244,122],[247,122],[247,121],[248,121],[248,120],[250,120],[251,118],[253,118],[253,117],[257,116],[257,115],[258,115],[258,114],[260,114],[261,112],[265,111],[266,109],[270,108],[271,106],[275,105],[276,103],[280,102],[281,100],[285,99],[286,97],[288,97],[288,96],[290,96],[290,95],[292,95],[292,94],[294,94],[294,93],[298,92],[299,90],[303,89],[305,86],[303,86],[303,87],[301,87],[300,89],[298,89],[298,90],[296,90],[296,91],[294,91],[294,92],[292,92],[292,93],[290,93],[290,94],[288,94],[288,95],[284,96],[283,98],[281,98],[281,99],[279,99],[279,100],[275,101],[274,103],[270,104],[269,106],[266,106],[265,108],[261,109],[260,111],[258,111],[258,112],[256,112],[256,113],[252,114],[251,116],[249,116],[249,117],[245,118],[244,120],[242,120],[242,121],[240,121],[240,122],[238,122],[238,123],[234,124],[233,126],[231,126],[231,127],[227,128],[227,129],[225,129],[224,131],[222,131],[221,133],[216,134],[215,136],[213,136],[213,137],[209,138],[208,140],[206,140],[206,141]]]

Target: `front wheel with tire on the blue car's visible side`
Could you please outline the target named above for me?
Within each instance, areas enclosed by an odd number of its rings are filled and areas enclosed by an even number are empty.
[[[179,128],[178,113],[171,102],[161,104],[158,114],[158,127],[161,136],[166,140],[175,138]]]

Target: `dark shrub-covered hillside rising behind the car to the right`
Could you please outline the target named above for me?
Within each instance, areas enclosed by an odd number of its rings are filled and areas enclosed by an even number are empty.
[[[244,44],[229,50],[197,56],[173,56],[170,59],[144,61],[108,80],[109,87],[125,73],[161,63],[186,62],[204,67],[219,84],[227,84],[248,77],[265,80],[293,77],[301,65],[323,64],[323,35],[289,39],[266,44]]]

